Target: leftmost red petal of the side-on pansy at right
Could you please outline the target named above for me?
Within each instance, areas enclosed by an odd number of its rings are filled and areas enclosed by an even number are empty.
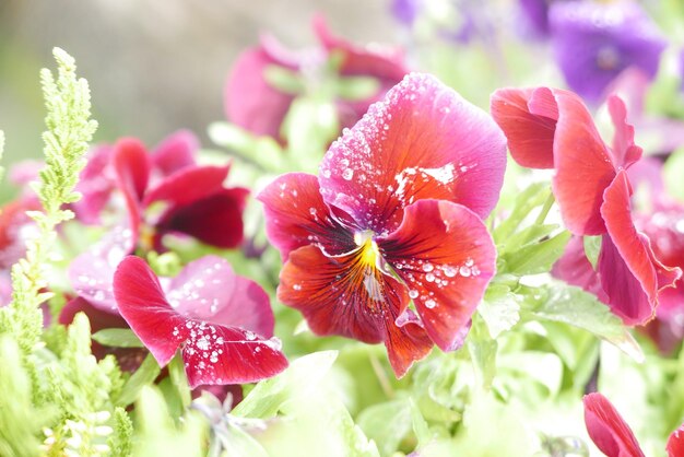
[[[504,130],[510,155],[518,164],[529,168],[553,168],[557,110],[555,118],[533,114],[528,106],[533,92],[533,89],[499,89],[494,92],[492,117]],[[551,101],[555,106],[553,95]]]

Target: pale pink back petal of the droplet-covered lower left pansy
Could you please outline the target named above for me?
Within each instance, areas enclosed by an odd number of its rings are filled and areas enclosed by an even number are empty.
[[[165,289],[168,302],[184,316],[273,336],[269,295],[256,282],[235,274],[221,257],[191,261]]]

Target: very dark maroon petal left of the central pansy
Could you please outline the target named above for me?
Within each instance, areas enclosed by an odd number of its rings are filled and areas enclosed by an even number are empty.
[[[155,224],[160,236],[184,233],[208,245],[233,248],[243,242],[243,210],[249,190],[220,188],[187,204],[173,206]]]

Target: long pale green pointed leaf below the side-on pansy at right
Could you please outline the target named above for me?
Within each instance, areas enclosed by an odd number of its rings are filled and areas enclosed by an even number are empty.
[[[553,281],[546,292],[546,300],[532,310],[532,316],[582,328],[616,345],[635,361],[644,360],[641,348],[622,320],[595,296],[561,281]]]

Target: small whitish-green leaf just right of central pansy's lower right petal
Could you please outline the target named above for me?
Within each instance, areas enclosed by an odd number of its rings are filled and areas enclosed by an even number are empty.
[[[520,304],[518,295],[510,292],[504,284],[491,284],[484,300],[477,306],[477,313],[490,330],[490,336],[496,339],[506,330],[510,330],[520,320]]]

